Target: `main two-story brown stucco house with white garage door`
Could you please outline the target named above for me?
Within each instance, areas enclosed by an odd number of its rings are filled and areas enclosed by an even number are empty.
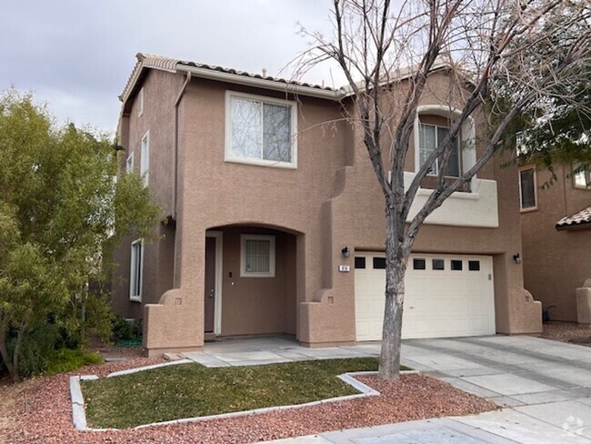
[[[346,90],[137,58],[120,143],[125,169],[145,173],[168,223],[155,244],[120,247],[113,307],[142,320],[149,354],[215,337],[288,334],[309,347],[380,339],[384,198],[359,129],[343,119],[354,110]],[[456,113],[433,93],[448,83],[445,67],[428,79],[408,180]],[[461,145],[481,134],[467,122]],[[457,146],[449,176],[481,148]],[[427,218],[407,272],[404,338],[541,331],[541,305],[514,260],[519,190],[505,162],[493,159]]]

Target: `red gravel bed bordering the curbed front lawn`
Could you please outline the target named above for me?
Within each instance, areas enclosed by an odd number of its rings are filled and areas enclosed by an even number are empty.
[[[14,390],[17,393],[16,402],[10,409],[10,418],[7,418],[11,420],[12,427],[5,435],[5,442],[250,443],[496,409],[496,405],[486,399],[469,395],[433,378],[408,375],[390,383],[374,376],[366,376],[359,379],[382,395],[263,415],[139,430],[79,432],[74,428],[68,382],[72,374],[105,376],[119,369],[155,364],[158,361],[160,359],[135,358],[84,368],[84,371],[78,370],[75,373],[26,381],[24,389]],[[0,388],[0,392],[2,389]]]

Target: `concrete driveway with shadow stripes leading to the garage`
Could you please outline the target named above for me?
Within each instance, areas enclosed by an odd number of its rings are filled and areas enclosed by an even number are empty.
[[[459,424],[519,443],[591,443],[591,348],[495,336],[406,340],[402,354],[409,367],[506,406]]]

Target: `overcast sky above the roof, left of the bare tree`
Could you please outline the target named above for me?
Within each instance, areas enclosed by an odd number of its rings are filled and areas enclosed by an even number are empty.
[[[307,47],[296,24],[330,34],[329,7],[327,0],[0,0],[0,90],[32,90],[61,122],[114,131],[136,53],[290,77],[280,70]],[[330,85],[330,76],[326,67],[304,80]]]

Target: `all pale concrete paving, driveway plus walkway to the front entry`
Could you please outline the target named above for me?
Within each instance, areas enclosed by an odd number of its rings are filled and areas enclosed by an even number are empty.
[[[205,365],[376,356],[379,344],[303,348],[288,338],[207,344],[186,357]],[[283,439],[283,443],[591,444],[591,348],[530,337],[406,340],[403,364],[506,409]]]

